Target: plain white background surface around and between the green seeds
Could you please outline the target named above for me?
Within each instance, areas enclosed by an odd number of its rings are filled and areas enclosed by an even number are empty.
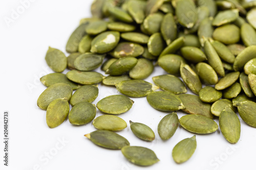
[[[12,11],[22,4],[16,0],[0,2],[0,169],[255,169],[256,130],[246,125],[240,117],[241,138],[237,144],[227,142],[220,129],[212,134],[196,135],[197,149],[194,155],[187,162],[176,164],[172,158],[175,144],[194,134],[179,126],[172,138],[162,141],[157,133],[157,125],[166,112],[153,109],[147,104],[146,98],[132,98],[135,101],[132,109],[120,115],[128,127],[118,134],[127,138],[131,145],[155,151],[160,161],[150,167],[133,165],[126,161],[121,151],[103,149],[93,144],[83,136],[96,130],[91,123],[77,127],[66,120],[57,128],[48,128],[46,111],[36,105],[38,96],[46,89],[39,78],[53,72],[46,64],[45,54],[48,46],[65,52],[66,42],[79,20],[91,16],[91,3],[92,0],[37,0],[31,2],[8,27],[4,17],[11,18]],[[163,74],[166,72],[156,67],[146,81],[153,83],[153,76]],[[111,94],[119,92],[115,87],[100,84],[99,96],[93,104]],[[6,110],[10,113],[8,167],[3,165],[2,142],[3,113]],[[96,117],[100,115],[102,113],[97,110]],[[185,113],[178,112],[179,118],[183,115]],[[129,120],[150,126],[156,139],[146,142],[134,136]],[[215,120],[218,123],[218,119]],[[61,144],[59,140],[66,142]],[[47,158],[45,154],[49,152],[52,155]]]

